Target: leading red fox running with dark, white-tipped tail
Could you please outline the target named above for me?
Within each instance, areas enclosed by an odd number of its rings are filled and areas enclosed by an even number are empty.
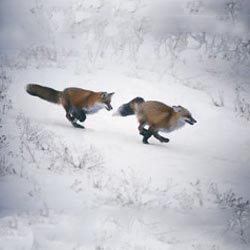
[[[193,125],[197,121],[191,113],[182,106],[170,107],[157,101],[145,101],[136,97],[128,103],[121,105],[114,115],[128,116],[136,114],[139,122],[139,133],[143,136],[143,143],[148,144],[148,139],[154,136],[160,142],[169,142],[159,132],[172,132],[188,123]],[[148,126],[148,129],[145,129]]]

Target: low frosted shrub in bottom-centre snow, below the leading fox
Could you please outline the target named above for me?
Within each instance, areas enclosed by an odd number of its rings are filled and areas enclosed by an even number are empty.
[[[151,179],[139,178],[132,169],[115,175],[103,172],[93,180],[93,187],[99,190],[98,195],[107,194],[106,204],[136,208],[168,208],[171,205],[169,190],[174,183],[169,180],[165,187],[153,185]]]

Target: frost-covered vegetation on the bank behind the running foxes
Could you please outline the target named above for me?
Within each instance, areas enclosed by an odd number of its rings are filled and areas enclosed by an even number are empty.
[[[9,68],[73,67],[76,73],[89,73],[109,67],[154,80],[172,75],[208,95],[213,91],[215,106],[231,105],[249,119],[244,98],[250,91],[247,0],[60,4],[38,0],[15,3],[21,6],[13,21],[7,21],[13,1],[2,5],[7,12],[2,23],[2,63]],[[11,28],[14,32],[9,32]],[[223,97],[225,82],[234,93],[229,98],[233,103]],[[216,90],[214,85],[219,85]]]

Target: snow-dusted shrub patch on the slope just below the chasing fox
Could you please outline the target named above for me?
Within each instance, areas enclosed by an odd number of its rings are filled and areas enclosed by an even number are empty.
[[[102,157],[93,147],[85,148],[82,152],[74,151],[53,133],[32,124],[25,115],[19,114],[16,121],[20,136],[19,153],[23,164],[32,163],[37,168],[46,168],[58,173],[88,173],[103,166]]]

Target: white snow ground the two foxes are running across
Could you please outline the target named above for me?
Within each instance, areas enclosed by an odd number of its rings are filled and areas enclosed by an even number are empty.
[[[15,162],[22,174],[0,179],[0,249],[249,249],[248,228],[241,239],[233,208],[217,204],[209,192],[216,185],[221,194],[231,189],[249,199],[247,121],[171,77],[154,82],[110,70],[65,69],[9,74],[9,136],[17,140],[14,124],[22,112],[32,126],[52,133],[55,144],[66,145],[74,159],[84,156],[98,166],[77,169],[64,162],[53,168],[45,155],[35,164]],[[134,116],[106,110],[89,115],[86,129],[76,129],[62,107],[28,95],[29,82],[114,91],[114,108],[136,96],[182,105],[198,122],[165,134],[168,144],[154,138],[142,144]]]

